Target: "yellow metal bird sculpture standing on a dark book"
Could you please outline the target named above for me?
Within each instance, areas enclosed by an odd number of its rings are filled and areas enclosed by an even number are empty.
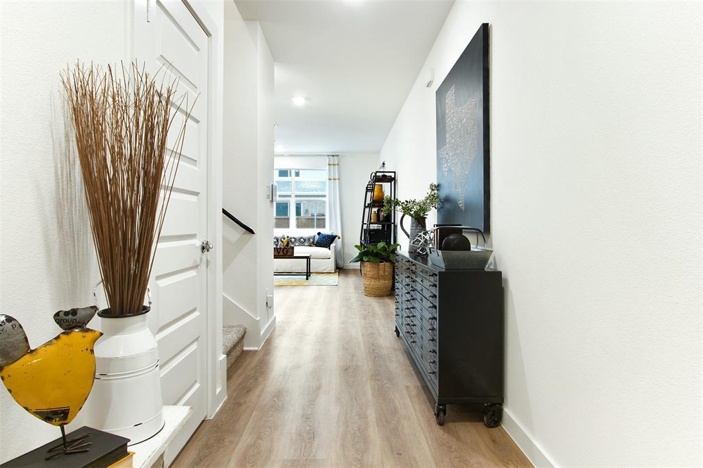
[[[90,433],[68,441],[65,425],[76,417],[93,388],[93,346],[101,332],[86,327],[98,308],[58,311],[53,320],[63,332],[30,349],[19,321],[0,314],[0,378],[22,408],[61,429],[61,443],[49,448],[46,460],[87,452]]]

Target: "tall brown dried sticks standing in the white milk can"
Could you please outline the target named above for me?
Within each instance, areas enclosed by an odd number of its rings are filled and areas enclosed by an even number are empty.
[[[176,102],[176,81],[158,82],[137,63],[122,64],[121,70],[77,63],[61,81],[108,301],[105,313],[138,313],[192,107],[181,108],[184,98]],[[179,112],[182,124],[175,118]]]

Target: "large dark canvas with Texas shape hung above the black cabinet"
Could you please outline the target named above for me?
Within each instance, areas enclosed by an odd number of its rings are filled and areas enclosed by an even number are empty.
[[[435,94],[440,224],[490,231],[489,25],[479,27]]]

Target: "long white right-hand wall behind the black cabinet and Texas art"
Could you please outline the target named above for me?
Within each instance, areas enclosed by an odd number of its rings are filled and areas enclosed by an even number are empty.
[[[703,463],[701,8],[458,1],[382,148],[423,195],[434,91],[490,22],[504,427],[538,464]]]

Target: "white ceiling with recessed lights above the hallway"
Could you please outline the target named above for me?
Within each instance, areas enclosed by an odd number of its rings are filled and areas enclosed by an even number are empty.
[[[285,154],[378,152],[453,4],[235,1],[261,23],[276,62],[276,152]],[[298,95],[306,105],[293,105]]]

